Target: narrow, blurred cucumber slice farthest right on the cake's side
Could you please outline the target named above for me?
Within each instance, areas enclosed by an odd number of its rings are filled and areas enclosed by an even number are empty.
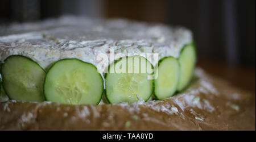
[[[196,65],[196,49],[195,44],[191,43],[185,45],[179,57],[180,64],[180,78],[177,90],[181,91],[188,86],[188,83],[193,77]]]

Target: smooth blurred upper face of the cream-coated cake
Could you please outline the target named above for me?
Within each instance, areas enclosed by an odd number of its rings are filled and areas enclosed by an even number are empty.
[[[44,40],[42,40],[43,37]],[[48,38],[47,38],[48,37]],[[16,40],[39,41],[61,39],[61,41],[144,41],[148,44],[170,45],[178,41],[192,40],[191,31],[182,27],[167,27],[163,24],[134,22],[125,19],[93,19],[75,16],[63,16],[58,19],[48,19],[42,22],[10,24],[1,26],[0,41]],[[187,41],[187,42],[189,42]],[[57,43],[56,43],[57,44]]]

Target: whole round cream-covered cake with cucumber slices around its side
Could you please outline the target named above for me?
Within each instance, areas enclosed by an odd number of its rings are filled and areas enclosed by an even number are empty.
[[[102,95],[106,103],[120,103],[147,101],[153,94],[164,99],[188,86],[196,63],[192,32],[162,24],[62,17],[11,24],[2,35],[2,86],[14,100],[98,104]]]

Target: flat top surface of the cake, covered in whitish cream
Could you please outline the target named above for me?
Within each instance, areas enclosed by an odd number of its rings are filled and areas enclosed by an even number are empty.
[[[14,23],[0,29],[0,47],[30,44],[64,49],[102,45],[182,48],[192,41],[192,33],[186,28],[124,19],[63,16],[37,23]]]

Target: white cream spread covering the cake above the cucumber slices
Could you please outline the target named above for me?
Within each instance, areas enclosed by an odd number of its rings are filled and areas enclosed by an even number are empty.
[[[158,59],[179,57],[184,45],[193,40],[192,32],[182,27],[73,16],[40,23],[11,24],[5,31],[0,30],[1,62],[10,55],[23,55],[46,70],[53,62],[67,58],[97,66],[102,62],[100,54],[109,55],[110,49],[125,56],[158,53]]]

